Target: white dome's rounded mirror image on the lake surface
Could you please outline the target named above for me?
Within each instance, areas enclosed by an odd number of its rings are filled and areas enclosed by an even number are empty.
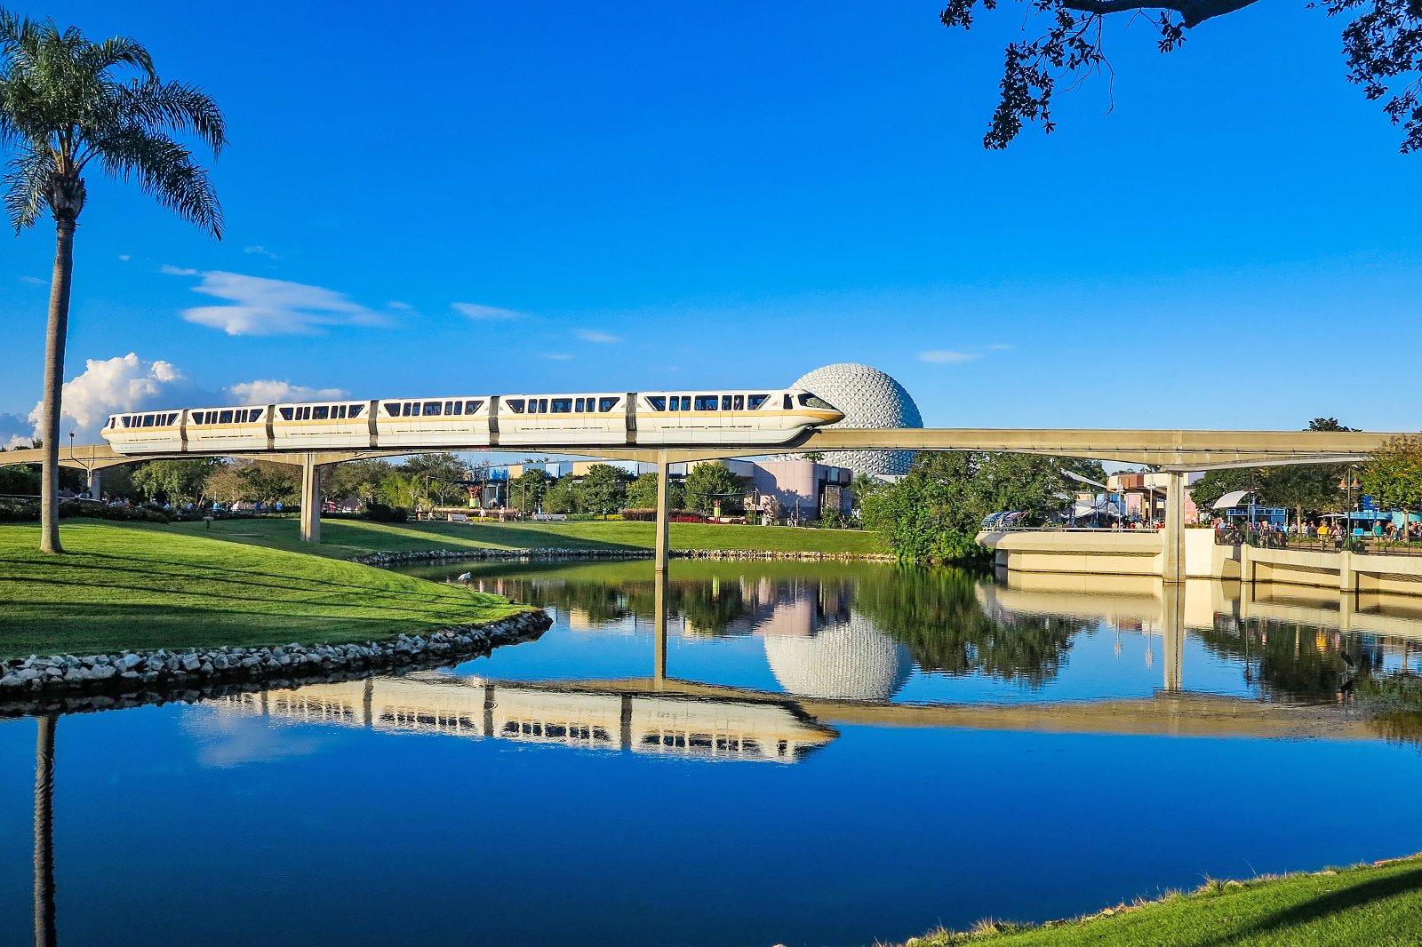
[[[811,637],[766,637],[765,658],[799,697],[886,701],[913,671],[909,651],[857,613]]]

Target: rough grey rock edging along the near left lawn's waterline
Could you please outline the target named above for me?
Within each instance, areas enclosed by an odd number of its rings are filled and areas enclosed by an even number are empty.
[[[115,654],[31,654],[0,661],[0,715],[193,701],[262,688],[407,674],[539,638],[553,620],[530,610],[483,624],[344,644],[282,644]]]

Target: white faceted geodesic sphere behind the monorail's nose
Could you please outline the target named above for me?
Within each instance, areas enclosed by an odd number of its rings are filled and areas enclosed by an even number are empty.
[[[801,375],[792,388],[805,388],[845,412],[830,428],[921,428],[923,417],[913,395],[897,381],[869,365],[840,363]],[[855,474],[909,472],[913,451],[826,451],[825,464],[848,466]]]

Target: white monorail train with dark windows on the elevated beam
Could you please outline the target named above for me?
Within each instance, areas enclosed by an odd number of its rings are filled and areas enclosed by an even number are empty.
[[[119,454],[785,444],[843,412],[799,388],[310,401],[115,414]]]

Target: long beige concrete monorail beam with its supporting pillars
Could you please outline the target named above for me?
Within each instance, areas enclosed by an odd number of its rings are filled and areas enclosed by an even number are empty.
[[[1338,464],[1362,461],[1391,432],[1358,431],[1143,431],[1143,429],[1051,429],[1051,428],[815,428],[802,437],[768,448],[764,444],[718,445],[648,445],[626,444],[589,446],[586,444],[540,444],[547,454],[596,456],[604,459],[656,464],[660,471],[657,491],[656,569],[665,572],[667,469],[671,464],[759,456],[781,451],[1000,451],[1054,456],[1079,456],[1098,461],[1159,465],[1170,475],[1166,491],[1166,528],[1162,533],[1159,574],[1166,582],[1185,580],[1185,475],[1190,471],[1233,466],[1270,466],[1281,464]],[[401,446],[400,449],[354,449],[292,452],[191,452],[164,455],[118,454],[107,444],[61,446],[63,466],[87,471],[91,478],[108,466],[175,456],[253,456],[274,464],[301,468],[301,539],[320,542],[321,469],[331,464],[380,456],[405,456],[435,451],[489,451],[488,442],[468,445]],[[528,448],[522,448],[528,449]],[[11,451],[6,464],[38,464],[43,449]]]

